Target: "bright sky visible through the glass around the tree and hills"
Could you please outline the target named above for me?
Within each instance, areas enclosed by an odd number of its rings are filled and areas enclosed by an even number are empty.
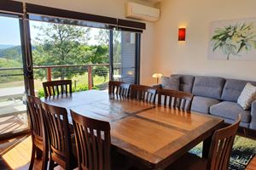
[[[44,22],[30,21],[31,38],[35,39],[38,35],[38,29],[34,26],[46,25]],[[96,45],[94,38],[100,29],[91,28],[90,45]],[[4,45],[20,45],[20,25],[19,19],[0,16],[0,44]]]

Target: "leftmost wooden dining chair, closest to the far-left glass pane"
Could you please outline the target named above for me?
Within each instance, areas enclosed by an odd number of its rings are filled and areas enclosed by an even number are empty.
[[[42,169],[47,169],[49,155],[47,135],[44,131],[41,100],[37,97],[26,95],[26,105],[32,131],[32,156],[29,169],[32,170],[33,168],[35,154],[37,154],[37,158],[42,157]]]

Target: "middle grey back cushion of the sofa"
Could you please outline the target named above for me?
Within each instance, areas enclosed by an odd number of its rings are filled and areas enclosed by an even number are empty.
[[[222,77],[195,77],[192,94],[221,99],[224,82]]]

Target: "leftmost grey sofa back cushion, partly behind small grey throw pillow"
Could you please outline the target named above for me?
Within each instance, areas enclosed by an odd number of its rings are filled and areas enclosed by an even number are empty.
[[[181,75],[181,74],[175,74],[172,76],[180,77],[180,85],[179,90],[183,92],[189,92],[192,93],[192,88],[194,84],[195,77],[191,75]]]

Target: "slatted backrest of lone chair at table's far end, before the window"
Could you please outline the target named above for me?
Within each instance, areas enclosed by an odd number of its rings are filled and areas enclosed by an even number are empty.
[[[55,96],[59,94],[72,93],[71,80],[57,80],[51,82],[43,82],[44,96]]]

